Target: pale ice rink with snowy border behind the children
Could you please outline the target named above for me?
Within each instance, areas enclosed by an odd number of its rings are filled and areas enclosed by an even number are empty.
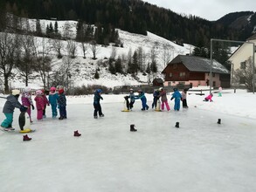
[[[105,117],[98,120],[92,96],[68,98],[67,120],[52,120],[49,106],[43,121],[33,111],[31,141],[18,130],[0,133],[0,191],[255,191],[255,119],[223,113],[227,102],[223,111],[212,110],[234,97],[204,103],[188,95],[189,109],[179,112],[142,112],[136,100],[134,111],[122,113],[121,95],[103,95]],[[17,116],[16,110],[18,128]],[[130,132],[130,124],[138,131]],[[82,135],[73,137],[75,130]]]

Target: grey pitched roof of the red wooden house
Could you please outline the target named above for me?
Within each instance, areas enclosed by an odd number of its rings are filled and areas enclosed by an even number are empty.
[[[183,63],[190,72],[214,72],[214,73],[230,73],[224,65],[218,63],[218,61],[209,58],[200,58],[189,55],[178,55],[168,65],[174,65]],[[168,66],[167,66],[168,67]],[[164,70],[163,70],[164,72]]]

